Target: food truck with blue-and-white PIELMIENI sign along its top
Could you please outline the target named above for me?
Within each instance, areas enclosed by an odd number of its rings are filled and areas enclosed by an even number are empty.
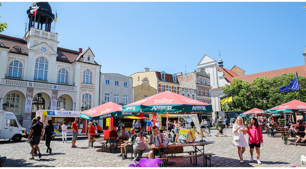
[[[71,125],[76,117],[79,118],[78,130],[79,135],[86,135],[88,120],[79,117],[81,111],[69,111],[69,110],[38,110],[36,111],[36,117],[40,116],[41,122],[44,124],[48,123],[48,120],[52,120],[54,125],[54,132],[56,136],[62,136],[62,125],[66,122],[67,125],[67,136],[72,136]],[[101,126],[97,125],[98,133],[102,133]]]

